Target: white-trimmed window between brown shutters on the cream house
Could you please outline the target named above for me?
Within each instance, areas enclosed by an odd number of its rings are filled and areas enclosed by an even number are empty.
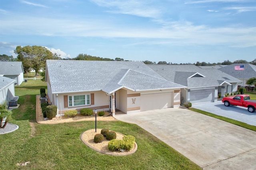
[[[90,94],[68,96],[68,106],[83,106],[91,104]]]

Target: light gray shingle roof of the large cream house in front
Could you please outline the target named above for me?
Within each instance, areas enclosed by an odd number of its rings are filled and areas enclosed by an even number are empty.
[[[47,60],[47,74],[52,93],[94,90],[111,93],[122,87],[134,91],[184,87],[164,79],[143,62],[133,61]]]

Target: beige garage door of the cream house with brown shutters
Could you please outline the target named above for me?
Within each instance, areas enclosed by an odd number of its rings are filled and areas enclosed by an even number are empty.
[[[172,92],[140,95],[140,111],[167,107],[172,107]]]

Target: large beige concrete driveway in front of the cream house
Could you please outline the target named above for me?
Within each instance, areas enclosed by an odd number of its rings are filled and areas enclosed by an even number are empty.
[[[136,123],[204,170],[256,169],[255,131],[183,108],[114,117]]]

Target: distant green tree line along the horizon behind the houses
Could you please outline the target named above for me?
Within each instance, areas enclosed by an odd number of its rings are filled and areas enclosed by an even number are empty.
[[[14,53],[17,54],[17,58],[14,58],[13,56],[8,55],[0,55],[0,61],[22,61],[24,72],[28,73],[33,68],[36,70],[36,76],[38,75],[38,70],[40,68],[45,68],[46,60],[47,59],[53,59],[53,60],[87,60],[87,61],[128,61],[124,60],[122,58],[115,58],[115,59],[109,59],[109,58],[102,58],[102,57],[96,57],[91,56],[87,54],[79,54],[75,58],[66,58],[62,59],[60,58],[60,55],[57,55],[56,53],[50,52],[45,47],[41,46],[17,46],[14,50]],[[166,61],[159,61],[158,63],[152,62],[152,61],[143,61],[145,64],[178,64],[178,63],[170,63]],[[194,64],[196,66],[213,66],[213,65],[230,65],[234,63],[250,63],[256,65],[256,59],[253,61],[246,61],[246,60],[236,60],[234,62],[231,62],[229,60],[225,60],[222,63],[206,63],[206,62],[200,62],[197,61],[196,63],[180,63],[182,64]]]

